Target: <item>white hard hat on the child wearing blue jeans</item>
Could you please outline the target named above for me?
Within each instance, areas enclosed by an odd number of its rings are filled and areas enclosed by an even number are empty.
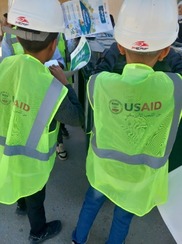
[[[170,46],[178,30],[176,0],[124,0],[114,35],[129,50],[152,52]]]

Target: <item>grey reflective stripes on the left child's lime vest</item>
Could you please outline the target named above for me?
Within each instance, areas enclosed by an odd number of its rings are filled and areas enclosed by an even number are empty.
[[[5,155],[7,156],[25,155],[42,161],[47,161],[49,159],[49,157],[55,151],[56,142],[55,142],[55,146],[53,146],[53,148],[50,148],[49,152],[47,153],[39,152],[36,150],[36,148],[39,143],[42,132],[46,126],[46,123],[55,107],[55,104],[57,103],[57,99],[60,96],[62,88],[63,85],[60,82],[58,82],[56,78],[54,78],[49,87],[49,90],[46,93],[44,101],[42,102],[42,105],[39,109],[37,118],[34,122],[34,125],[29,134],[29,138],[25,146],[6,145],[5,144],[6,138],[0,136],[0,145],[4,146]],[[42,121],[42,123],[39,123],[39,121]]]

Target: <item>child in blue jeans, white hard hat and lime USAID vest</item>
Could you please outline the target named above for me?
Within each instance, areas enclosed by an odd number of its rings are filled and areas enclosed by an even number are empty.
[[[72,233],[74,244],[86,243],[106,199],[115,204],[106,244],[124,243],[134,215],[167,201],[182,79],[153,67],[177,37],[177,3],[125,0],[114,33],[127,64],[122,74],[101,72],[87,84],[94,122],[86,159],[90,187]]]

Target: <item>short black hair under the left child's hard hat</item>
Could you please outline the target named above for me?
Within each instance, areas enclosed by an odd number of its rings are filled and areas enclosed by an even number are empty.
[[[18,27],[17,29],[24,30],[27,32],[32,32],[35,34],[41,33],[40,31],[25,29],[21,27]],[[18,40],[25,50],[29,52],[37,53],[44,50],[52,41],[54,41],[58,37],[58,34],[59,33],[49,33],[45,41],[30,41],[30,40],[22,39],[21,37],[18,37]]]

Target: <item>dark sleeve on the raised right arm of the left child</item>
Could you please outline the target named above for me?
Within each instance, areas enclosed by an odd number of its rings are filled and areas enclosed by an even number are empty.
[[[54,118],[67,125],[82,126],[84,124],[82,105],[78,101],[72,86],[67,85],[66,87],[68,88],[68,93],[62,101]]]

